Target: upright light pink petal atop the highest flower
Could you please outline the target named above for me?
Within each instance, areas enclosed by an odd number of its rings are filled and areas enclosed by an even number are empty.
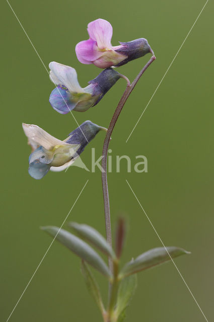
[[[97,19],[88,24],[88,33],[92,40],[97,42],[99,49],[110,48],[112,26],[104,19]]]

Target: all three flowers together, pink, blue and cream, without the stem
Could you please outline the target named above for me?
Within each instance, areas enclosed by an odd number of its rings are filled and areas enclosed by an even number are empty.
[[[112,26],[103,19],[88,25],[89,39],[76,45],[77,58],[83,64],[94,64],[104,68],[98,76],[82,88],[75,68],[55,61],[50,62],[50,79],[55,89],[49,102],[60,114],[71,111],[85,112],[97,105],[120,77],[125,77],[112,67],[142,57],[153,51],[144,38],[111,45]],[[85,121],[68,137],[61,141],[37,125],[23,124],[23,129],[32,147],[29,157],[29,174],[35,179],[43,178],[51,171],[61,171],[71,166],[83,152],[85,146],[104,129],[91,121]],[[105,129],[106,130],[106,129]]]

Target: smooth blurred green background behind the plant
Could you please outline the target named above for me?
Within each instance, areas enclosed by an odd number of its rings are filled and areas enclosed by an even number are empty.
[[[111,22],[112,44],[145,37],[157,60],[140,79],[112,135],[112,158],[127,154],[148,158],[148,173],[109,174],[114,228],[125,213],[128,234],[123,261],[161,246],[140,209],[128,180],[166,246],[192,254],[176,264],[209,321],[213,318],[213,3],[208,2],[147,111],[127,143],[130,131],[205,1],[117,0],[14,1],[11,5],[48,67],[50,61],[77,69],[82,87],[101,71],[81,64],[75,45],[88,39],[87,24],[97,18]],[[6,1],[1,30],[1,320],[6,321],[52,239],[41,225],[63,222],[87,180],[68,220],[93,225],[103,234],[101,174],[77,167],[49,173],[36,181],[28,175],[30,147],[21,123],[33,123],[64,139],[77,127],[70,114],[60,115],[48,103],[53,89],[48,74]],[[132,80],[149,55],[120,67]],[[120,80],[95,108],[75,112],[107,127],[125,88]],[[100,132],[82,154],[90,168],[91,148],[101,154]],[[113,163],[114,164],[114,163]],[[122,164],[122,162],[121,162]],[[64,226],[66,227],[66,225]],[[114,230],[114,229],[113,229]],[[107,283],[96,274],[106,298]],[[36,272],[11,321],[101,321],[80,273],[80,260],[54,243]],[[172,263],[138,274],[138,288],[127,321],[203,321],[196,303]]]

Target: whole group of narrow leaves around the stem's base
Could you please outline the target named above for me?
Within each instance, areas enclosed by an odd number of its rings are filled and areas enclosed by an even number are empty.
[[[112,311],[112,321],[122,322],[125,318],[125,310],[136,288],[136,273],[173,260],[173,258],[180,255],[189,254],[185,250],[177,247],[155,248],[126,263],[122,270],[118,272],[119,258],[121,256],[125,235],[125,225],[123,220],[119,221],[117,227],[115,243],[116,255],[107,243],[106,239],[96,229],[76,222],[70,222],[68,225],[74,229],[80,237],[55,226],[46,226],[42,227],[42,229],[82,259],[81,270],[85,278],[86,285],[90,294],[97,303],[104,321],[108,318],[109,311],[108,309],[106,311],[104,308],[99,287],[87,263],[106,276],[111,283],[114,284],[114,281],[116,281],[116,283],[119,281],[119,289],[117,297],[115,298],[115,307]],[[114,266],[117,267],[117,270],[114,271],[114,277],[100,255],[91,246],[89,246],[86,241],[108,257],[111,257],[114,262]]]

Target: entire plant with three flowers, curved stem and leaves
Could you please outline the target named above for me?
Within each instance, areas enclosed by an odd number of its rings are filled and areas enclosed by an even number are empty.
[[[89,81],[88,86],[82,88],[78,82],[77,72],[73,67],[52,61],[49,64],[50,79],[55,84],[55,89],[50,94],[49,102],[53,109],[60,114],[72,113],[73,110],[85,112],[97,105],[120,77],[126,79],[127,88],[115,110],[108,130],[91,121],[85,121],[70,132],[67,138],[59,140],[37,125],[23,123],[28,144],[32,147],[32,153],[29,156],[29,174],[35,179],[43,178],[49,170],[62,171],[72,166],[84,151],[86,145],[101,130],[108,131],[103,146],[103,160],[105,162],[108,143],[119,113],[139,77],[156,59],[153,55],[130,85],[128,79],[112,67],[124,65],[147,53],[153,54],[148,41],[140,38],[129,42],[120,42],[119,46],[112,46],[112,26],[103,19],[89,23],[88,33],[90,38],[79,42],[76,46],[77,57],[84,64],[94,64],[97,67],[104,68],[104,70],[96,78]],[[141,253],[136,258],[132,257],[131,261],[121,267],[126,226],[124,219],[120,218],[116,227],[114,248],[112,248],[106,164],[104,168],[102,179],[106,239],[93,227],[77,222],[68,224],[75,234],[61,229],[62,226],[60,228],[45,226],[42,229],[50,234],[53,240],[58,240],[81,258],[82,274],[89,292],[101,311],[103,321],[122,322],[136,288],[136,273],[169,260],[173,261],[174,258],[189,252],[178,247],[154,248]],[[109,266],[98,252],[102,252],[102,255],[108,257]],[[109,282],[107,306],[104,305],[99,286],[93,277],[90,266],[100,272]]]

